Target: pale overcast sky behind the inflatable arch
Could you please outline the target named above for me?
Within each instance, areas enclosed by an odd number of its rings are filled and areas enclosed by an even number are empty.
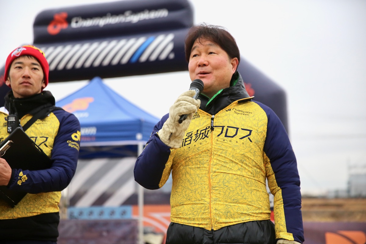
[[[39,12],[104,2],[111,1],[1,1],[1,65],[17,46],[33,43],[33,22]],[[303,194],[346,189],[350,165],[363,166],[366,172],[365,0],[190,2],[194,23],[226,27],[242,57],[285,90]],[[138,96],[129,92],[137,79],[144,88]],[[50,83],[46,90],[60,100],[86,82]],[[178,72],[105,82],[161,117],[189,88],[190,79],[187,72]],[[141,99],[158,92],[156,87],[173,90],[155,102]]]

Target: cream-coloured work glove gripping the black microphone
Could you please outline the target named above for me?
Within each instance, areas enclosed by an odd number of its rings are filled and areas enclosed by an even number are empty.
[[[182,144],[184,133],[191,123],[193,115],[197,112],[201,100],[193,98],[196,92],[188,90],[182,93],[169,109],[169,117],[158,131],[158,136],[165,145],[179,148]],[[186,120],[179,124],[181,115],[188,115]]]

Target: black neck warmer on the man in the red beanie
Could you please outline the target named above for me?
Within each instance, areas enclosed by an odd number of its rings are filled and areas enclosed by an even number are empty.
[[[55,106],[55,98],[50,91],[42,91],[26,98],[15,98],[13,91],[9,91],[5,95],[4,107],[9,111],[9,114],[16,114],[19,118],[26,114],[34,115],[39,110]]]

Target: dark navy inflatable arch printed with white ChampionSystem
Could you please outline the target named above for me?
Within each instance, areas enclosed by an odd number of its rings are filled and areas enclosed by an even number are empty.
[[[184,38],[193,25],[188,0],[126,0],[40,12],[33,45],[49,62],[49,82],[187,70]],[[240,57],[250,95],[270,106],[287,129],[285,92]],[[0,70],[3,81],[4,67]],[[0,105],[9,88],[0,84]]]

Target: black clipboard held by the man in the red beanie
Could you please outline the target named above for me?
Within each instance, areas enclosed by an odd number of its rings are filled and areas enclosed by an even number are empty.
[[[51,159],[20,127],[15,128],[0,144],[0,157],[4,158],[12,169],[39,170],[48,169],[52,165]],[[26,194],[27,192],[11,190],[6,185],[0,186],[0,199],[12,207]]]

